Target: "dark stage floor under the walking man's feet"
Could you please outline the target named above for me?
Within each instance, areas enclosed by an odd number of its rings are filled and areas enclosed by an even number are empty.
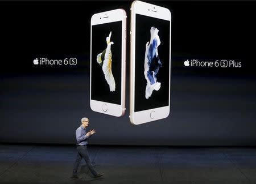
[[[75,146],[0,144],[0,183],[256,183],[255,147],[89,146],[94,179],[84,160],[72,180]]]

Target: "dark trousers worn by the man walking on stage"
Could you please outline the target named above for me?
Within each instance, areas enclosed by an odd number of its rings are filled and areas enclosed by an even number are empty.
[[[97,175],[97,172],[93,169],[92,167],[92,163],[90,162],[90,157],[89,157],[89,153],[87,150],[87,146],[77,146],[76,147],[78,153],[77,153],[77,157],[76,157],[76,161],[73,167],[73,176],[77,176],[77,169],[80,165],[80,162],[82,160],[82,158],[84,158],[88,168],[90,169],[90,172],[93,174],[93,176]]]

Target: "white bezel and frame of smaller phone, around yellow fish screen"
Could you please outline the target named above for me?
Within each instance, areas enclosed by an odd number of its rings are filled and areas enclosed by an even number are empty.
[[[120,117],[125,114],[126,18],[127,16],[125,10],[116,9],[94,14],[90,22],[90,108],[95,112],[114,115],[116,117]],[[92,26],[117,21],[122,21],[121,105],[92,100]],[[106,112],[104,111],[105,109],[102,108],[105,105],[108,106],[108,110],[106,110]]]

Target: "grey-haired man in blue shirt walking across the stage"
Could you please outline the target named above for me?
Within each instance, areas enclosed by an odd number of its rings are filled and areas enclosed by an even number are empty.
[[[102,177],[103,173],[97,173],[92,166],[92,163],[90,162],[90,157],[88,154],[87,150],[87,144],[88,144],[88,139],[90,136],[96,133],[96,131],[90,130],[88,133],[86,133],[86,127],[89,125],[89,119],[88,118],[82,118],[81,119],[81,126],[76,129],[76,141],[77,141],[77,157],[76,161],[73,167],[73,174],[72,174],[72,179],[77,179],[79,178],[77,176],[77,169],[80,165],[80,162],[82,158],[84,158],[90,172],[93,174],[95,178]]]

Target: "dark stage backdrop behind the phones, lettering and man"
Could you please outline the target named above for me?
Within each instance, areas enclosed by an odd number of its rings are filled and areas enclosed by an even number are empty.
[[[2,143],[75,143],[82,117],[90,144],[255,145],[255,2],[152,1],[172,12],[170,116],[140,126],[89,106],[90,18],[130,1],[1,2]],[[129,40],[127,35],[127,40]],[[127,60],[129,61],[129,41]],[[77,57],[76,66],[34,66]],[[187,59],[235,59],[241,68],[184,67]]]

